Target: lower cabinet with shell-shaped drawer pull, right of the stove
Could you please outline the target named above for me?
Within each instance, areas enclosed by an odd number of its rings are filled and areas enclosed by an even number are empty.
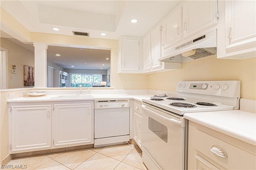
[[[188,169],[255,170],[255,146],[189,121]]]

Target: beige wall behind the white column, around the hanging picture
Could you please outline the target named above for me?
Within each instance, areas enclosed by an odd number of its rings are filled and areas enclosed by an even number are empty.
[[[6,38],[0,38],[0,40],[1,48],[8,51],[8,86],[6,88],[22,88],[24,87],[24,65],[34,67],[34,53]],[[12,65],[16,65],[15,74],[12,73]],[[12,76],[12,79],[10,79],[10,76]]]

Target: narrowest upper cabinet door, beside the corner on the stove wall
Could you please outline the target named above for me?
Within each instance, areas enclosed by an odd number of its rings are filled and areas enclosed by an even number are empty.
[[[151,36],[150,34],[143,39],[143,66],[144,71],[151,70]]]

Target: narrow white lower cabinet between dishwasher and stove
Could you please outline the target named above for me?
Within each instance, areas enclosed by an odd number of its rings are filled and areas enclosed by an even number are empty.
[[[133,108],[133,127],[134,141],[142,149],[142,103],[134,101]]]

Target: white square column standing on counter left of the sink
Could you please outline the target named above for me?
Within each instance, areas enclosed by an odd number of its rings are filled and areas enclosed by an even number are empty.
[[[35,88],[47,87],[47,48],[44,43],[33,43],[35,55]]]

